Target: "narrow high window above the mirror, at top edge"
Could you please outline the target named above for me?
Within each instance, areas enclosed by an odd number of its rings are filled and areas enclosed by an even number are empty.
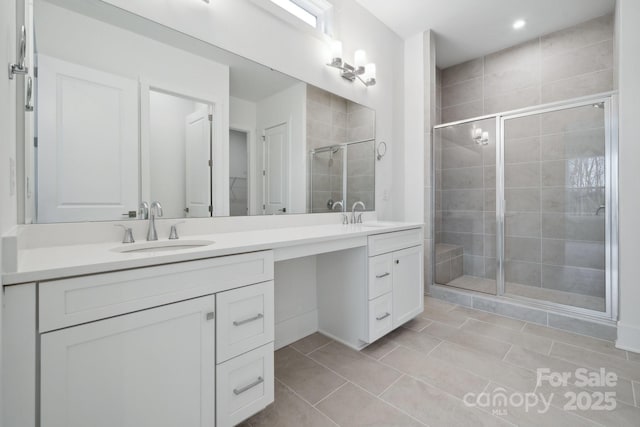
[[[327,0],[253,0],[253,3],[300,29],[331,34],[333,5]]]

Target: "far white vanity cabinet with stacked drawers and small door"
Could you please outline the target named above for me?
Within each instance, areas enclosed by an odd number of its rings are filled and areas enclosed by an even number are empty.
[[[414,227],[318,255],[319,331],[359,350],[420,314],[423,254],[422,227]]]

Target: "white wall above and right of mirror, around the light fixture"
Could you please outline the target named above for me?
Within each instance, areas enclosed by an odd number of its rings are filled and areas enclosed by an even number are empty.
[[[375,109],[376,137],[389,144],[388,154],[376,165],[376,209],[382,218],[392,218],[395,200],[385,201],[383,195],[393,197],[403,191],[392,188],[391,169],[395,144],[403,136],[403,44],[354,0],[332,1],[335,36],[342,40],[346,58],[363,48],[377,64],[378,83],[370,88],[341,79],[325,65],[329,52],[324,40],[283,23],[248,0],[105,1]],[[239,20],[250,24],[238,25]]]

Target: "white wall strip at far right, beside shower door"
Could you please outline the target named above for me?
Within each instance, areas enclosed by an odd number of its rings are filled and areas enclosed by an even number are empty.
[[[640,2],[618,0],[620,348],[640,352]]]

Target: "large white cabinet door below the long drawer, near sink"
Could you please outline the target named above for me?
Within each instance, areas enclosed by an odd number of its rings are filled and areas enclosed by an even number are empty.
[[[215,423],[215,297],[41,335],[42,427]]]

